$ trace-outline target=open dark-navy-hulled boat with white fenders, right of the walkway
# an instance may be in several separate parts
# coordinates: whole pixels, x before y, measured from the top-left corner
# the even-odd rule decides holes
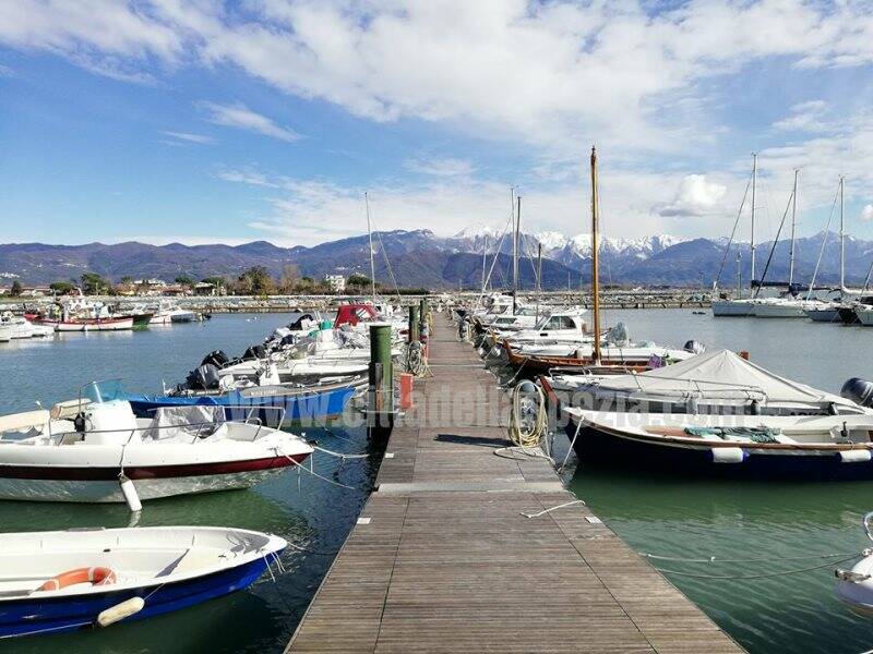
[[[671,474],[873,480],[873,414],[720,415],[565,408],[583,463]]]

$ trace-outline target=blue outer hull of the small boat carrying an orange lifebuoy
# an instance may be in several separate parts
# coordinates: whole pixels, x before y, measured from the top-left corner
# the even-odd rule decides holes
[[[125,618],[125,622],[194,606],[250,586],[266,570],[266,561],[265,556],[212,574],[174,583],[162,584],[157,580],[148,585],[116,592],[2,602],[0,638],[91,629],[96,626],[100,611],[132,597],[146,598],[145,606],[140,613]]]

